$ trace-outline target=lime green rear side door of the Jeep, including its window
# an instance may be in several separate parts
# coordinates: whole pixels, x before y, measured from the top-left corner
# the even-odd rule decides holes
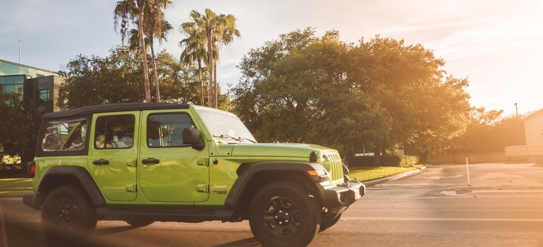
[[[136,158],[140,112],[94,114],[88,167],[106,200],[137,197]]]

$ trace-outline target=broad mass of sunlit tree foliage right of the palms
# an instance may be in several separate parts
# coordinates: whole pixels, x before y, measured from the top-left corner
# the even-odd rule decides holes
[[[233,111],[258,140],[343,154],[414,145],[425,154],[462,133],[468,82],[444,77],[444,61],[403,40],[376,36],[355,46],[338,37],[296,30],[243,57]]]

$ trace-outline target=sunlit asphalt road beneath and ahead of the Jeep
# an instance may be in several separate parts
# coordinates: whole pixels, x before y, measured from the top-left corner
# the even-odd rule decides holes
[[[368,187],[310,246],[543,246],[543,167],[431,165]],[[39,212],[0,199],[0,246],[47,246]],[[248,222],[155,222],[133,228],[99,222],[81,246],[260,246]],[[50,244],[54,246],[56,243]]]

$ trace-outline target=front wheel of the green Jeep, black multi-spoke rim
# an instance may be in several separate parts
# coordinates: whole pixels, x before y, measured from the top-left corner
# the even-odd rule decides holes
[[[307,246],[317,236],[321,218],[310,193],[291,181],[261,188],[248,217],[252,234],[263,246]]]

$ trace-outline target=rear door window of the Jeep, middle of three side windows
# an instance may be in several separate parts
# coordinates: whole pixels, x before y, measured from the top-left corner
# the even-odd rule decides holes
[[[100,116],[94,125],[94,147],[97,149],[132,147],[134,125],[134,115]]]

